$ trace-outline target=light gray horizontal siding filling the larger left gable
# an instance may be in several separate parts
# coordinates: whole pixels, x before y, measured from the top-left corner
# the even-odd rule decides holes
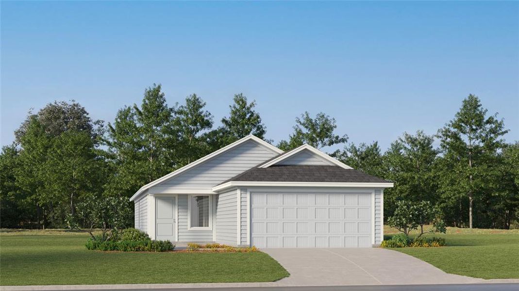
[[[265,146],[248,141],[155,188],[212,188],[276,155]]]

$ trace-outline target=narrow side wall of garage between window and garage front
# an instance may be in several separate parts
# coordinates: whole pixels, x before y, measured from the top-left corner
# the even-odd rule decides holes
[[[237,189],[223,192],[216,197],[216,241],[218,243],[237,244]]]

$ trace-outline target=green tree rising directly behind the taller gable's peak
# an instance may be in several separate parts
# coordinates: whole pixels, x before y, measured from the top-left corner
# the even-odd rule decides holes
[[[247,102],[247,97],[242,93],[234,95],[234,104],[229,105],[229,117],[222,118],[223,126],[216,129],[218,145],[221,148],[233,143],[242,137],[253,134],[262,140],[265,139],[266,127],[260,114],[254,110],[256,101]]]

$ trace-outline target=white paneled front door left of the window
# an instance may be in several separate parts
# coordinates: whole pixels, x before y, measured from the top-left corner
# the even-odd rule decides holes
[[[176,241],[176,197],[156,197],[155,199],[155,237],[162,241]]]

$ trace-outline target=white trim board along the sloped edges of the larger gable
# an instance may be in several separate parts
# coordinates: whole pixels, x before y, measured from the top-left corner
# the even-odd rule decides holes
[[[258,138],[258,137],[256,137],[256,136],[254,136],[254,135],[251,134],[251,135],[248,135],[248,136],[245,136],[245,137],[241,138],[240,140],[238,140],[238,141],[236,141],[236,142],[234,142],[234,143],[231,143],[231,144],[229,144],[229,145],[226,145],[226,146],[224,146],[224,147],[221,148],[221,149],[218,149],[218,150],[216,150],[216,151],[213,151],[213,153],[211,153],[211,154],[209,154],[209,155],[207,155],[207,156],[205,156],[205,157],[203,157],[203,158],[200,158],[200,159],[198,159],[198,160],[196,160],[196,161],[194,161],[194,162],[192,162],[192,163],[189,163],[189,164],[185,165],[184,167],[182,167],[182,168],[180,168],[180,169],[178,169],[178,170],[176,170],[176,171],[173,171],[173,172],[167,174],[166,176],[162,176],[162,177],[156,179],[155,181],[153,181],[153,182],[151,182],[151,183],[148,183],[148,184],[142,186],[142,187],[141,187],[137,192],[135,192],[135,194],[130,198],[130,201],[133,201],[135,198],[137,198],[139,195],[141,195],[141,193],[142,193],[144,190],[146,190],[146,189],[148,189],[148,188],[150,188],[150,187],[153,187],[153,186],[155,186],[155,185],[157,185],[157,184],[159,184],[159,183],[161,183],[161,182],[163,182],[163,181],[166,181],[166,180],[169,179],[169,178],[172,178],[172,177],[174,177],[174,176],[176,176],[176,175],[179,175],[179,174],[181,174],[182,172],[185,172],[185,171],[187,171],[187,170],[189,170],[189,169],[191,169],[191,168],[194,168],[194,167],[196,167],[197,165],[199,165],[199,164],[201,164],[201,163],[203,163],[203,162],[205,162],[205,161],[207,161],[207,160],[209,160],[209,159],[211,159],[211,158],[213,158],[213,157],[216,157],[216,156],[218,156],[218,155],[224,153],[225,151],[227,151],[227,150],[229,150],[229,149],[231,149],[231,148],[234,148],[234,147],[236,147],[236,146],[238,146],[238,145],[240,145],[240,144],[242,144],[242,143],[244,143],[244,142],[250,141],[250,140],[255,141],[255,142],[257,142],[257,143],[259,143],[259,144],[265,146],[266,148],[268,148],[269,150],[271,150],[271,151],[272,151],[273,153],[275,153],[275,154],[278,154],[278,155],[279,155],[279,154],[283,153],[283,151],[282,151],[281,149],[279,149],[279,148],[277,148],[277,147],[275,147],[275,146],[273,146],[273,145],[271,145],[271,144],[269,144],[269,143],[263,141],[261,138]]]

